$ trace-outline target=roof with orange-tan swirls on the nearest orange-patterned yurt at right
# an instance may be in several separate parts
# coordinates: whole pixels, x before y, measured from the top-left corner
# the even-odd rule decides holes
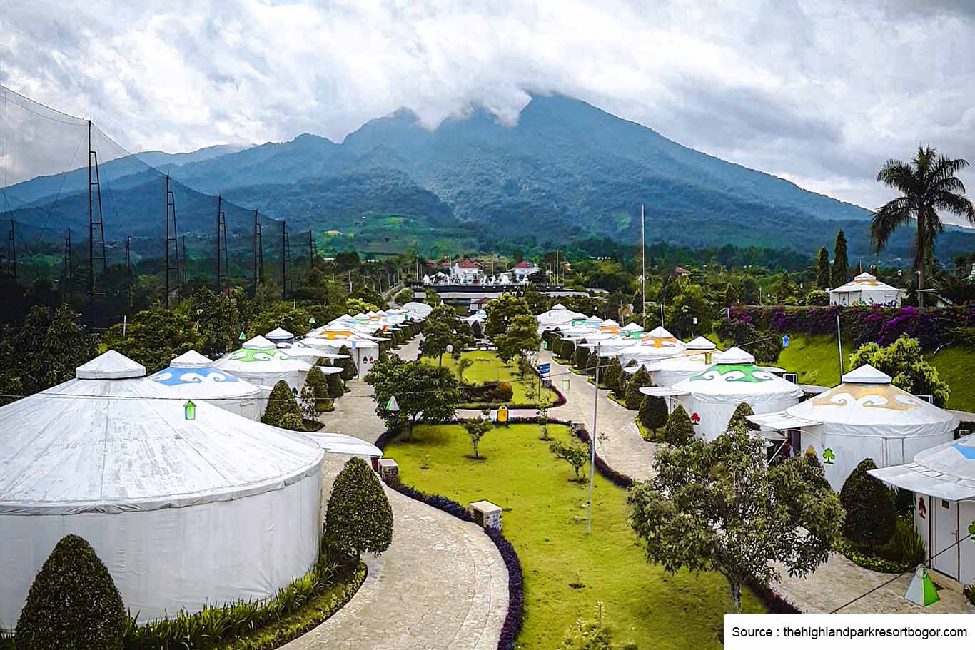
[[[889,375],[871,365],[847,372],[839,386],[786,412],[883,437],[935,436],[954,431],[958,424],[952,413],[897,388]]]

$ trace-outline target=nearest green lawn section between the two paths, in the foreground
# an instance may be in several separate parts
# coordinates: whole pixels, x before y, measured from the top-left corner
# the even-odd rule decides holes
[[[567,427],[551,426],[557,439]],[[537,425],[495,428],[473,460],[459,425],[418,425],[413,440],[395,440],[386,456],[404,482],[464,505],[487,499],[504,508],[504,534],[525,570],[523,648],[551,650],[577,617],[592,620],[597,600],[617,642],[649,648],[717,648],[731,599],[719,574],[668,575],[648,564],[627,522],[626,491],[596,476],[593,534],[586,535],[585,484],[539,440]],[[429,456],[429,469],[420,467]],[[581,583],[573,589],[570,584]],[[745,595],[746,611],[761,602]]]

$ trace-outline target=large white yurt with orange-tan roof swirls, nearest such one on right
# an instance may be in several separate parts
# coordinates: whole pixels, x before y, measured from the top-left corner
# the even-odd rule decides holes
[[[861,365],[842,383],[784,412],[754,416],[767,429],[795,430],[797,452],[812,448],[826,478],[839,491],[865,458],[879,468],[909,463],[917,452],[955,438],[950,412],[890,383],[890,376]]]

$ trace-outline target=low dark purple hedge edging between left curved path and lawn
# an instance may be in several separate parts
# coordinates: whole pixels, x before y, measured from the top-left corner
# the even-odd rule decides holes
[[[526,422],[531,423],[535,423],[536,421],[535,418],[514,419],[526,420]],[[453,420],[453,423],[456,422],[458,420]],[[552,421],[550,420],[550,422]],[[520,422],[515,422],[515,424],[520,424]],[[561,423],[555,422],[554,424]],[[386,444],[400,433],[399,430],[386,431],[375,440],[374,444],[380,449],[385,449]],[[395,484],[386,484],[400,494],[408,496],[410,499],[425,503],[431,508],[436,508],[448,515],[455,516],[461,521],[474,521],[474,517],[471,516],[470,511],[453,499],[439,494],[427,494],[402,481],[398,481]],[[525,575],[522,570],[522,561],[518,558],[515,547],[505,538],[504,534],[493,528],[484,528],[484,532],[488,539],[494,543],[494,546],[497,547],[498,553],[501,554],[501,558],[504,560],[505,568],[508,570],[508,613],[505,615],[504,624],[501,626],[501,636],[497,642],[497,650],[515,650],[515,641],[518,638],[519,632],[522,631],[522,624],[525,621]]]

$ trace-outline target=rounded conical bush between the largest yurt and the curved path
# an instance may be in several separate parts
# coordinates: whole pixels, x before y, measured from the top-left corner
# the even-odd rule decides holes
[[[393,510],[379,479],[362,458],[352,458],[331,484],[326,537],[347,554],[380,555],[393,541]]]

